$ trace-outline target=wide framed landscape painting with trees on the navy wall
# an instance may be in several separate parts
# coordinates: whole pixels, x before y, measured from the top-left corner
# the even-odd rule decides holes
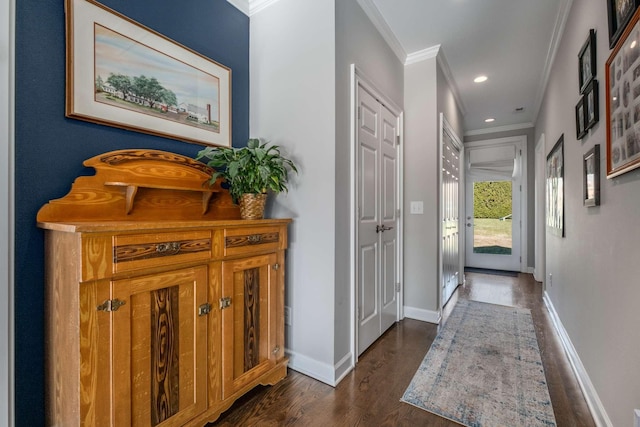
[[[66,116],[231,146],[231,69],[94,0],[66,0]]]

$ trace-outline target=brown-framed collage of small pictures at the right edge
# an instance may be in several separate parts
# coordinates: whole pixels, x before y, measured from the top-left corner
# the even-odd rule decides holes
[[[607,178],[640,167],[640,9],[605,66]]]

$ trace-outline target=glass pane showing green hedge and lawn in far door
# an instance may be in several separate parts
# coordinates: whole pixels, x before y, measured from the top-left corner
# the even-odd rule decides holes
[[[511,255],[511,181],[473,184],[473,252]]]

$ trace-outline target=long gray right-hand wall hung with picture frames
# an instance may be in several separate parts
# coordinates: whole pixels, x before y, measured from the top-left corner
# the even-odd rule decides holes
[[[600,122],[576,140],[577,54],[597,32]],[[615,426],[640,408],[640,170],[606,179],[605,63],[610,54],[606,2],[573,2],[536,123],[546,153],[564,134],[566,237],[546,235],[547,292]],[[635,66],[635,65],[634,65]],[[582,157],[601,148],[601,206],[582,205]],[[553,280],[549,281],[549,275]]]

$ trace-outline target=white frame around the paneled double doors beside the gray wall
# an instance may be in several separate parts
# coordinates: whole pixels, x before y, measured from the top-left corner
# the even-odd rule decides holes
[[[402,211],[400,207],[403,203],[403,191],[404,182],[403,169],[404,169],[404,113],[402,109],[398,107],[393,101],[387,98],[376,85],[360,70],[355,64],[351,64],[351,171],[350,171],[350,186],[351,186],[351,249],[350,249],[350,288],[351,288],[351,367],[355,367],[358,362],[358,292],[357,292],[357,265],[358,265],[358,150],[357,150],[357,132],[358,132],[358,86],[362,86],[368,92],[375,94],[378,98],[396,117],[398,117],[398,252],[396,254],[397,267],[398,267],[398,283],[400,284],[400,290],[397,296],[397,320],[404,318],[404,297],[403,297],[403,264],[402,264],[402,248],[403,248],[403,223],[402,223]]]

